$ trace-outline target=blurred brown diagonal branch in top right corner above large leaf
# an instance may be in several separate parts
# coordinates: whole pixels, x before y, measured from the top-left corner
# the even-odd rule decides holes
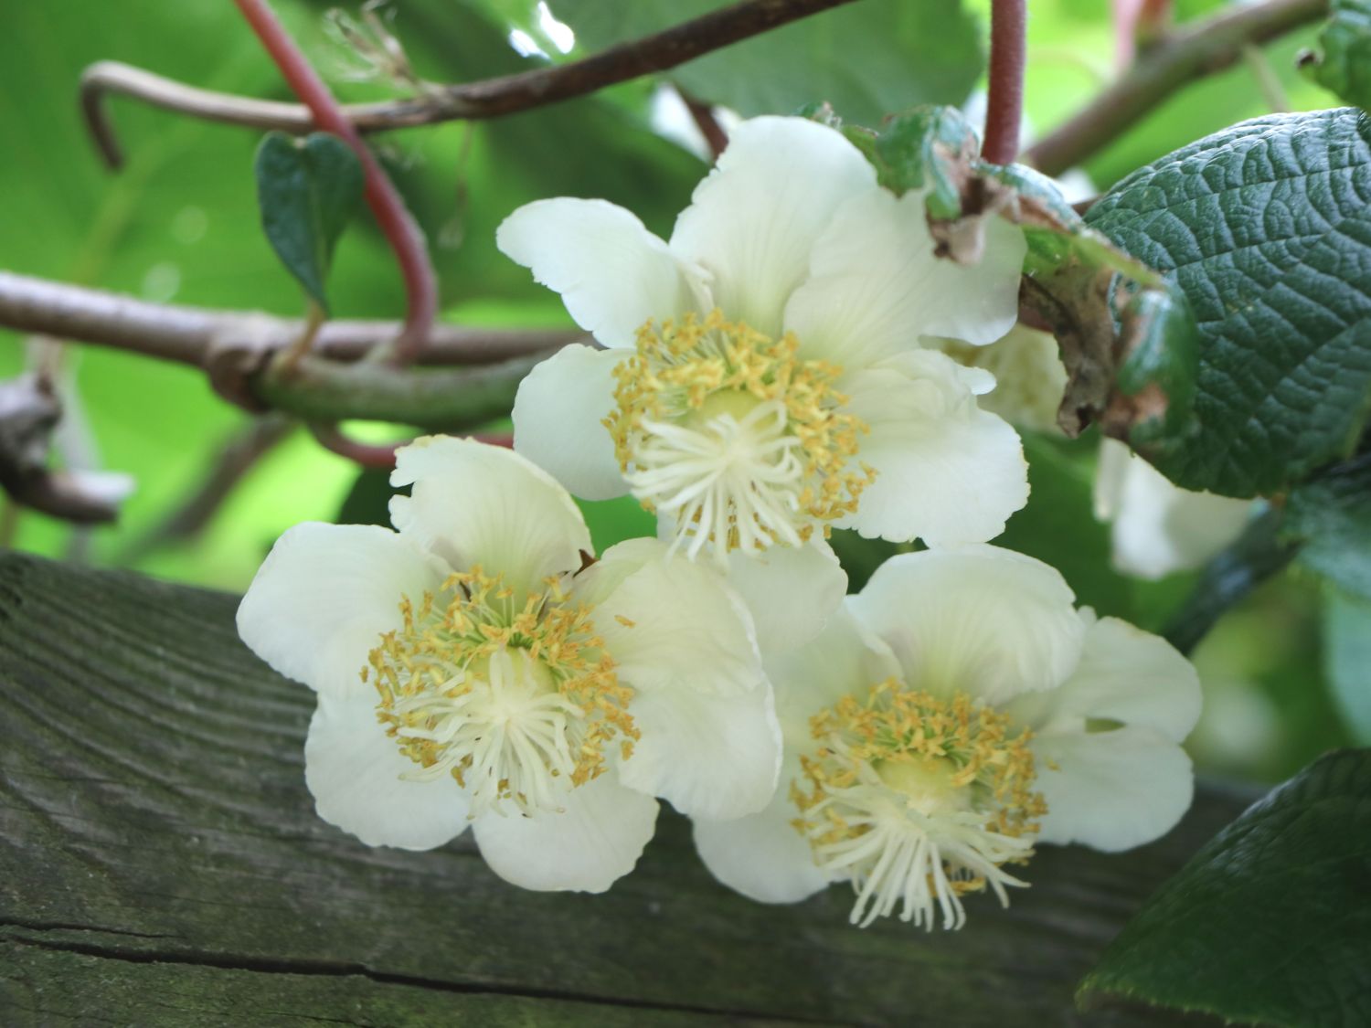
[[[1023,160],[1058,175],[1117,138],[1180,86],[1238,62],[1243,47],[1283,36],[1327,10],[1328,0],[1265,0],[1224,8],[1182,29],[1145,52],[1080,114],[1027,149]]]

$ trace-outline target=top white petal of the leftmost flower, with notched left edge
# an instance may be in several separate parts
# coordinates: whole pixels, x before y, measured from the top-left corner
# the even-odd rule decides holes
[[[511,450],[428,436],[395,452],[391,485],[411,482],[410,496],[391,500],[391,521],[459,570],[480,565],[514,589],[535,589],[591,551],[566,489]]]

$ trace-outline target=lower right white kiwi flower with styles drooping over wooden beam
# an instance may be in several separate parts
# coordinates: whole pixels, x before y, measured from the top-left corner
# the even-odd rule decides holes
[[[965,895],[1008,905],[1027,884],[1036,843],[1127,850],[1190,806],[1190,662],[1008,550],[891,558],[766,666],[780,788],[757,814],[695,820],[705,864],[754,899],[846,881],[854,924],[960,928]]]

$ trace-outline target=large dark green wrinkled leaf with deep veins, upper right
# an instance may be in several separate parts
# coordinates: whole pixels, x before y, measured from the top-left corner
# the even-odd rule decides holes
[[[1371,399],[1368,196],[1371,121],[1344,108],[1243,122],[1090,208],[1198,322],[1194,424],[1130,435],[1174,482],[1270,493],[1352,451]]]

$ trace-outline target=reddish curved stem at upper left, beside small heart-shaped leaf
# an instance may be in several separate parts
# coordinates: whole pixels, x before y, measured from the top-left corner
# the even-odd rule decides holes
[[[366,173],[366,203],[372,208],[381,232],[385,233],[395,259],[404,277],[407,311],[404,326],[395,340],[395,356],[400,363],[418,358],[428,341],[433,317],[437,314],[437,281],[429,262],[424,232],[404,207],[395,185],[387,177],[372,151],[362,143],[352,122],[343,114],[333,93],[315,74],[308,59],[295,45],[266,0],[233,0],[248,25],[256,33],[271,60],[281,70],[292,92],[300,99],[314,122],[343,138],[356,154]]]

